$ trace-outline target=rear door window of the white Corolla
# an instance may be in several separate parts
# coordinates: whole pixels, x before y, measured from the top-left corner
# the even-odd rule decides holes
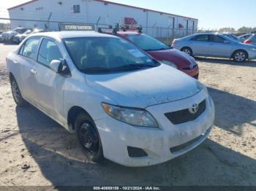
[[[33,38],[33,39],[27,40],[20,50],[20,55],[23,55],[27,58],[31,58],[36,61],[38,44],[39,44],[39,38]]]

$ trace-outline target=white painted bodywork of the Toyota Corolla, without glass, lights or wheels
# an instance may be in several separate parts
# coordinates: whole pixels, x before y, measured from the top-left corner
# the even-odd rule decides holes
[[[27,39],[53,39],[67,61],[71,77],[63,77],[45,66],[18,55]],[[118,74],[83,74],[76,69],[62,42],[64,38],[110,36],[94,32],[50,32],[33,34],[7,56],[7,70],[18,82],[23,98],[74,133],[67,122],[69,109],[80,106],[94,120],[102,141],[103,155],[127,166],[163,163],[183,155],[207,139],[214,123],[214,103],[206,87],[186,74],[162,64],[153,69],[126,71]],[[42,40],[42,39],[41,39]],[[38,48],[37,48],[38,51]],[[165,117],[167,112],[189,109],[206,100],[206,110],[196,120],[174,125]],[[158,128],[128,125],[105,113],[101,104],[146,109],[157,121]],[[196,139],[199,138],[199,139]],[[196,139],[177,152],[176,147]],[[127,147],[138,147],[147,157],[129,157]]]

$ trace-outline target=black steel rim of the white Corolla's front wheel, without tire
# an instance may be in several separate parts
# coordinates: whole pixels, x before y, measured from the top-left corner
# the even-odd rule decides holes
[[[84,122],[80,126],[79,135],[83,148],[91,155],[96,154],[99,150],[99,137],[95,128],[89,122]]]

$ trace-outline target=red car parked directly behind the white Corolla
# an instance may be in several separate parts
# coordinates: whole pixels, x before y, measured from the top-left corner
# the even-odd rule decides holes
[[[135,31],[118,31],[116,36],[120,36],[132,42],[157,61],[173,66],[183,71],[195,79],[199,77],[199,68],[195,62],[195,58],[168,46],[167,44],[154,39],[146,34]]]

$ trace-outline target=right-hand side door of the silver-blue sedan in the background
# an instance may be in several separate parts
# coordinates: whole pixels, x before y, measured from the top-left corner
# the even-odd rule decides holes
[[[232,44],[220,35],[209,35],[210,47],[209,54],[216,57],[230,58],[232,54]]]

